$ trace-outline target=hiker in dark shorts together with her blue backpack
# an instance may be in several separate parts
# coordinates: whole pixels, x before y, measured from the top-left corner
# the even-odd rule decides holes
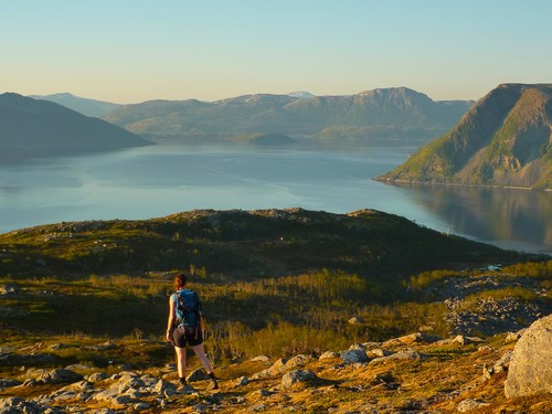
[[[193,390],[185,383],[185,347],[189,344],[198,355],[209,378],[211,390],[219,388],[214,376],[213,365],[203,350],[203,330],[201,326],[201,301],[198,295],[185,286],[185,275],[174,276],[174,290],[169,298],[169,321],[167,325],[167,340],[174,346],[177,352],[177,367],[179,376],[179,390]],[[185,306],[188,304],[188,306]],[[191,305],[190,305],[191,304]]]

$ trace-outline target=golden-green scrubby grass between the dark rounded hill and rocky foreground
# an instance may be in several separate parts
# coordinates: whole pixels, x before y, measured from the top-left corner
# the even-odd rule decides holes
[[[508,280],[528,275],[542,279],[541,286],[544,286],[550,283],[550,263],[518,264],[496,277]],[[459,280],[475,277],[474,273],[425,272],[410,278],[418,288],[410,293],[413,300],[379,302],[381,286],[344,272],[322,269],[252,280],[234,280],[205,269],[195,272],[192,288],[200,293],[205,304],[206,344],[212,357],[220,361],[258,354],[339,351],[350,343],[384,341],[421,327],[446,337],[449,329],[444,321],[447,308],[442,301],[433,301],[432,295],[424,299],[420,288],[438,286],[448,277]],[[21,289],[17,295],[0,298],[0,307],[9,309],[1,322],[2,329],[12,332],[7,337],[7,344],[13,343],[9,338],[19,338],[14,343],[21,344],[23,339],[18,332],[26,331],[43,338],[82,335],[158,343],[151,346],[151,351],[137,351],[139,361],[145,361],[150,353],[155,357],[163,352],[168,294],[171,291],[168,273],[0,278],[0,285],[7,284],[17,284]],[[476,310],[481,298],[499,301],[510,297],[526,302],[543,300],[529,288],[509,286],[469,295],[457,310]],[[352,317],[360,322],[349,323]],[[33,341],[25,343],[29,346]],[[68,354],[62,357],[70,358]],[[110,355],[124,359],[116,357]],[[74,359],[94,360],[91,353],[75,354]],[[97,363],[105,365],[105,360]]]

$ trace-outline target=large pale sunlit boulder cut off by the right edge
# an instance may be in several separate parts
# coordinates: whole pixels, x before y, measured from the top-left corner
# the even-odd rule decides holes
[[[552,315],[533,322],[516,343],[508,368],[508,399],[552,392]]]

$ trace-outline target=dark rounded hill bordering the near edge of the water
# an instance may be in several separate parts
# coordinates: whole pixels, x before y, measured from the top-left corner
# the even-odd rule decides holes
[[[416,270],[516,261],[373,210],[192,211],[147,221],[61,223],[0,234],[2,273],[148,272],[205,267],[255,277],[328,268],[394,284]]]

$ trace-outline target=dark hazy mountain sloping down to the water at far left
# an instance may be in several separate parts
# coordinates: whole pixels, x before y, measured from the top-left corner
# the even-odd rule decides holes
[[[149,145],[123,128],[47,100],[0,95],[2,160],[117,150]]]

